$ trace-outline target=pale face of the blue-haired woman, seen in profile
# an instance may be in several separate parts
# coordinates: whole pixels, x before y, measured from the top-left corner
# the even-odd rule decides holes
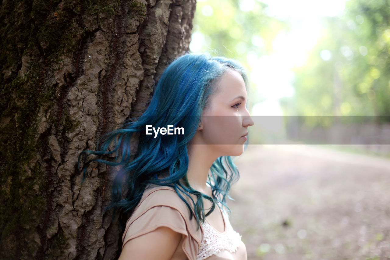
[[[218,157],[241,155],[247,128],[254,124],[245,107],[248,100],[245,82],[238,71],[229,69],[215,88],[216,93],[203,110],[199,142],[208,144]]]

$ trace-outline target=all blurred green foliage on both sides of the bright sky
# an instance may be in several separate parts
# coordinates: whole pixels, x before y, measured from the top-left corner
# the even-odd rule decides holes
[[[251,6],[243,6],[244,2],[248,1],[198,1],[195,51],[211,50],[238,59],[249,70],[249,55],[272,53],[273,40],[279,32],[289,30],[289,21],[269,17],[267,5],[260,1],[250,1]],[[293,68],[295,94],[280,99],[283,110],[302,116],[389,115],[389,14],[390,0],[349,0],[344,12],[324,17],[321,38],[308,50],[305,64]],[[252,87],[256,93],[257,86]],[[332,124],[317,121],[315,124]]]

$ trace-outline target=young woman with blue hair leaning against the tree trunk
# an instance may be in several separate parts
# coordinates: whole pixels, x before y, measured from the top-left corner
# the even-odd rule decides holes
[[[165,69],[140,118],[108,134],[98,151],[83,151],[116,154],[114,162],[87,161],[84,174],[92,161],[122,165],[111,204],[129,216],[120,260],[247,258],[226,213],[230,185],[239,178],[231,157],[243,153],[253,125],[247,82],[234,60],[185,54]]]

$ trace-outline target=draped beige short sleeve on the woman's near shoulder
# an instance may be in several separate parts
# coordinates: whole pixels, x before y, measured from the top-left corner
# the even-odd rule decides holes
[[[175,191],[156,189],[144,194],[144,199],[128,219],[123,246],[131,239],[167,227],[182,234],[181,249],[189,260],[196,260],[202,235],[196,229],[195,218],[189,219],[188,210]]]

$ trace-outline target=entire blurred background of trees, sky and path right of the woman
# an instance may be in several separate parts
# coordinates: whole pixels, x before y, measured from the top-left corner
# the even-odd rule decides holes
[[[249,259],[390,259],[390,1],[198,0],[193,24],[250,76]]]

